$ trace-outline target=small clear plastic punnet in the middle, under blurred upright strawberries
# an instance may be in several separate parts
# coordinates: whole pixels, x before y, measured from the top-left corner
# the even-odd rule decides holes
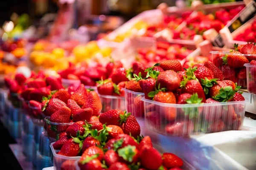
[[[99,98],[102,102],[102,113],[113,109],[125,110],[125,97],[123,96],[110,96],[110,95],[100,95]]]

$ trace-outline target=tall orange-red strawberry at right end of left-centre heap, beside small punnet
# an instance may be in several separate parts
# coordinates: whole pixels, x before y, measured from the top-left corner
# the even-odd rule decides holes
[[[102,110],[102,103],[96,91],[90,91],[88,93],[87,101],[82,108],[92,108],[93,116],[99,115],[99,112]]]

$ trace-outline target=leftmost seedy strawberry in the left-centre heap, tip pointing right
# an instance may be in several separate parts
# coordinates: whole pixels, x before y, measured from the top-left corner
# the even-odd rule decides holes
[[[66,103],[62,102],[60,99],[49,99],[42,108],[42,111],[46,116],[51,116],[64,106],[66,106]]]

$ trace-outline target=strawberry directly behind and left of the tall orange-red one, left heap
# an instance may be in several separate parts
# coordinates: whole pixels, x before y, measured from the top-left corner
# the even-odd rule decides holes
[[[70,99],[75,100],[79,106],[82,106],[87,102],[87,91],[83,84],[79,85],[76,91],[71,95]]]

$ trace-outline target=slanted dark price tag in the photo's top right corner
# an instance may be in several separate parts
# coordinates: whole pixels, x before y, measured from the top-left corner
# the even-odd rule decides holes
[[[249,21],[251,18],[253,18],[256,14],[256,3],[252,1],[247,6],[244,7],[244,9],[230,21],[230,26],[228,26],[228,29],[230,30],[230,33],[235,31],[237,28],[242,26],[244,23]]]

